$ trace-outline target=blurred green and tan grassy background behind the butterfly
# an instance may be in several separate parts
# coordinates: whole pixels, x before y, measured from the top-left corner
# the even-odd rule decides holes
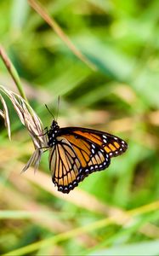
[[[1,0],[1,44],[32,108],[49,126],[44,104],[56,115],[60,96],[60,126],[111,132],[128,151],[62,195],[48,153],[35,175],[32,168],[20,175],[34,149],[7,100],[12,142],[1,119],[0,253],[159,255],[159,2],[41,3],[96,70],[26,0]],[[0,84],[17,91],[3,61]]]

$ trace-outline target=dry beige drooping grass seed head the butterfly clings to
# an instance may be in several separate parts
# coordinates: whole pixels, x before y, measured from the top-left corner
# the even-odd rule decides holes
[[[27,162],[26,166],[23,168],[22,172],[25,172],[30,166],[34,166],[37,170],[43,150],[48,148],[46,133],[43,129],[43,123],[41,119],[37,116],[37,113],[31,108],[31,106],[18,94],[13,91],[6,89],[3,85],[0,85],[0,91],[9,97],[12,102],[16,113],[18,114],[20,121],[26,126],[29,132],[32,142],[34,144],[35,151],[31,155],[30,160]],[[9,121],[9,110],[7,103],[5,102],[3,96],[0,94],[0,100],[3,104],[3,110],[0,110],[0,115],[3,117],[5,125],[8,129],[9,138],[10,133],[10,121]]]

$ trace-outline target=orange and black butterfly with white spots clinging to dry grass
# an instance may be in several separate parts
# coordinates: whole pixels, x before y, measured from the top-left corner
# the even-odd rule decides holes
[[[47,135],[53,183],[67,194],[90,173],[105,170],[111,164],[111,157],[128,148],[121,138],[104,131],[60,128],[55,119]]]

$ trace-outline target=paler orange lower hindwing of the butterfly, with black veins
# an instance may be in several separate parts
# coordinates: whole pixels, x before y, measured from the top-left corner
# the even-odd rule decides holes
[[[53,183],[58,186],[59,191],[69,193],[77,186],[81,179],[81,167],[71,143],[65,137],[57,137],[54,147],[49,150],[49,169],[52,172]]]

